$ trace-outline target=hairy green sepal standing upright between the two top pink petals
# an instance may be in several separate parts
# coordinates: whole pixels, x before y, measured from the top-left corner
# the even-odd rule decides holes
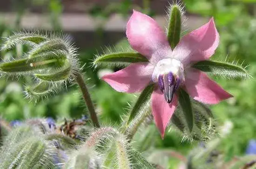
[[[182,29],[182,11],[181,7],[178,5],[173,5],[170,7],[170,21],[168,27],[168,42],[172,49],[180,41],[181,29]]]

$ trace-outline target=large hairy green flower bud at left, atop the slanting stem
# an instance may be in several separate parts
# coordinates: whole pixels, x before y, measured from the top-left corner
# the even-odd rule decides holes
[[[34,77],[36,85],[26,87],[25,93],[29,98],[37,100],[56,91],[60,84],[72,81],[79,70],[76,49],[68,38],[46,36],[39,32],[16,33],[5,39],[1,49],[10,49],[20,43],[30,44],[30,50],[20,58],[0,63],[0,73]]]

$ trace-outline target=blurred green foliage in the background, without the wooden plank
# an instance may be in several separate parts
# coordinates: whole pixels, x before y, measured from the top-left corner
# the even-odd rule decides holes
[[[13,0],[17,12],[16,27],[11,28],[8,25],[0,24],[1,37],[6,37],[11,30],[19,29],[20,18],[27,7],[25,1],[22,0],[22,5],[19,5],[21,0]],[[61,15],[63,7],[60,0],[33,0],[31,3],[35,5],[47,4],[47,12],[54,30],[61,30],[58,17]],[[248,69],[252,76],[255,76],[256,0],[184,0],[184,4],[186,4],[189,15],[214,17],[221,42],[213,58],[228,59],[230,62],[235,59],[239,60],[238,64],[249,65]],[[141,11],[154,15],[154,11],[149,6],[150,0],[143,0]],[[121,13],[123,17],[128,17],[128,13],[134,7],[138,8],[132,0],[122,0],[110,3],[105,7],[95,5],[91,8],[90,14],[94,17],[101,17],[106,22],[112,13]],[[101,31],[98,31],[99,36],[102,35]],[[122,43],[125,42],[122,41]],[[1,57],[6,59],[20,56],[24,50],[26,50],[26,46],[17,46],[14,50],[2,52]],[[101,120],[106,121],[106,124],[119,124],[121,123],[121,116],[127,112],[127,103],[135,100],[135,97],[133,94],[118,93],[99,80],[98,70],[94,71],[89,66],[96,50],[81,49],[79,57],[82,64],[86,63],[85,76],[90,78],[88,84],[91,85],[90,91],[94,102],[97,103],[97,111],[101,114]],[[27,79],[21,79],[20,83],[13,81],[11,78],[8,80],[0,78],[0,116],[8,121],[32,117],[77,118],[81,117],[81,114],[87,113],[86,107],[81,101],[79,90],[73,86],[68,87],[67,91],[63,91],[57,96],[50,97],[47,101],[40,101],[34,105],[34,102],[25,100],[22,94],[23,83]],[[231,159],[235,155],[243,154],[249,139],[256,138],[256,81],[255,79],[230,81],[217,78],[216,81],[234,95],[234,98],[230,100],[211,106],[219,125],[224,124],[227,120],[233,123],[232,132],[220,144],[220,150],[227,156],[227,159]],[[196,144],[181,143],[181,138],[172,130],[164,140],[161,140],[160,135],[158,135],[155,142],[157,148],[170,147],[184,154]],[[175,168],[175,163],[178,162],[174,159],[169,162],[172,164],[170,165],[172,168]]]

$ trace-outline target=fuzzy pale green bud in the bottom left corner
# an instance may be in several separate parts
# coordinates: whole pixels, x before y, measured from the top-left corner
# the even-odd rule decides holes
[[[31,126],[14,128],[6,137],[0,152],[1,169],[34,169],[53,167],[54,146]]]

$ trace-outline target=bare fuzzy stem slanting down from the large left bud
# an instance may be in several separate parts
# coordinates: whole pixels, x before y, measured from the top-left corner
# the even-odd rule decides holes
[[[85,84],[85,82],[82,78],[82,75],[79,72],[76,73],[76,79],[75,80],[76,80],[77,84],[79,85],[79,87],[81,88],[81,91],[82,91],[82,94],[83,94],[83,99],[84,99],[84,101],[85,101],[85,103],[88,107],[88,111],[90,113],[93,124],[94,124],[95,127],[99,128],[100,124],[99,124],[97,114],[96,114],[95,109],[94,109],[93,102],[91,100],[88,88],[86,87],[86,84]]]

